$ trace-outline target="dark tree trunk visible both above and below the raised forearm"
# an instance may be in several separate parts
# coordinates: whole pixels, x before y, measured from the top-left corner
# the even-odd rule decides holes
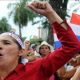
[[[68,0],[40,0],[40,1],[49,1],[51,6],[54,8],[54,10],[59,14],[59,16],[64,19],[65,16],[67,15],[67,3]],[[46,19],[43,19],[42,21],[43,28],[48,28],[48,38],[47,42],[53,45],[54,42],[54,37],[53,37],[53,31],[52,28],[50,27],[51,25]]]

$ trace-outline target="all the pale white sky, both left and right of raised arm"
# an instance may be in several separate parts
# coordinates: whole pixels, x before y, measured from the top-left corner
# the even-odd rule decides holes
[[[16,33],[19,34],[18,26],[14,24],[12,17],[9,18],[8,16],[11,9],[7,8],[9,3],[14,3],[15,1],[18,0],[0,0],[0,19],[5,16],[12,28],[16,29]],[[69,0],[68,14],[71,15],[76,8],[78,8],[76,13],[80,14],[80,0]],[[31,25],[31,22],[29,22],[28,25],[22,29],[22,36],[27,37],[28,39],[34,35],[38,36],[38,27],[40,27],[40,24],[33,26]]]

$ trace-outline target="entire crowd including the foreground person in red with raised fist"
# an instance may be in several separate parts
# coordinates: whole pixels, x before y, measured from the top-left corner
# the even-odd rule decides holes
[[[49,20],[62,46],[54,50],[46,41],[23,44],[15,33],[0,34],[0,80],[80,80],[80,42],[66,20],[45,1],[26,7]]]

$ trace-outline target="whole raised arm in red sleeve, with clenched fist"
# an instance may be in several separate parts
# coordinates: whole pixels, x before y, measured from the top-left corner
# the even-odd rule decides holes
[[[41,64],[45,73],[52,74],[79,51],[80,43],[70,26],[66,21],[63,22],[48,2],[33,2],[28,5],[28,7],[36,13],[48,18],[62,44],[61,48],[55,50],[42,60]],[[63,24],[61,24],[62,22]]]

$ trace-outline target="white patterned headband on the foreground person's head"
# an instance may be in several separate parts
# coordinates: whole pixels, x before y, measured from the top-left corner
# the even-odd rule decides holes
[[[24,48],[23,42],[19,38],[19,36],[17,34],[12,33],[12,32],[5,32],[5,33],[2,33],[2,35],[9,35],[9,36],[11,36],[12,38],[14,38],[20,44],[21,48]]]

